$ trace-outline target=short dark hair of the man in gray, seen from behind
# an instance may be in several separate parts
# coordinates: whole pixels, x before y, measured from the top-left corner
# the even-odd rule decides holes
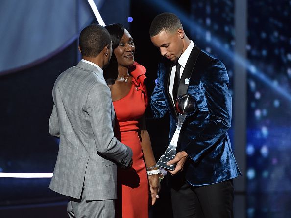
[[[85,27],[79,38],[82,56],[96,57],[106,45],[110,44],[110,41],[110,35],[103,26],[91,24]]]

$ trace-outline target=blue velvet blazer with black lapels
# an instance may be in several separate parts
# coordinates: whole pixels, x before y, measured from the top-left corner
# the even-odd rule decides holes
[[[154,118],[161,118],[168,111],[170,113],[169,142],[177,125],[177,112],[169,94],[171,68],[172,62],[167,59],[159,63],[150,101]],[[189,79],[189,85],[185,79]],[[192,159],[188,158],[184,173],[193,186],[213,184],[241,175],[227,134],[231,125],[232,101],[228,84],[223,63],[194,46],[177,95],[191,94],[198,104],[196,113],[186,117],[177,145],[177,152],[185,151]]]

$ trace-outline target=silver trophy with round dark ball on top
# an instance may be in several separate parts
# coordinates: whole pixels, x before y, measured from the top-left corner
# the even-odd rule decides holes
[[[167,162],[174,159],[176,156],[177,142],[180,135],[180,130],[187,115],[193,114],[197,109],[196,100],[189,94],[180,95],[175,104],[176,110],[179,113],[178,124],[170,145],[165,153],[160,157],[157,166],[163,167],[168,170],[174,170],[175,165],[167,165]]]

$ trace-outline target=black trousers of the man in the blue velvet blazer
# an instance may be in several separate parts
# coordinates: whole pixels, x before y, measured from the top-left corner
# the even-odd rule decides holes
[[[196,187],[179,183],[171,188],[174,218],[233,218],[233,179]]]

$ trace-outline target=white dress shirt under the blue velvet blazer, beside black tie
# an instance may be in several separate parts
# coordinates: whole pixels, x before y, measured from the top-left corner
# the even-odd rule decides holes
[[[191,53],[193,48],[194,48],[194,42],[192,40],[190,40],[190,44],[188,45],[186,50],[182,53],[182,55],[180,56],[180,58],[177,61],[181,65],[180,78],[182,77],[184,68],[186,66],[186,63],[188,61],[188,58],[189,58],[190,53]],[[172,97],[172,101],[174,104],[175,104],[175,102],[173,99],[173,86],[174,86],[174,80],[175,80],[175,73],[176,73],[176,66],[173,66],[172,71],[171,71],[171,75],[170,75],[169,93],[170,93],[170,96]]]

